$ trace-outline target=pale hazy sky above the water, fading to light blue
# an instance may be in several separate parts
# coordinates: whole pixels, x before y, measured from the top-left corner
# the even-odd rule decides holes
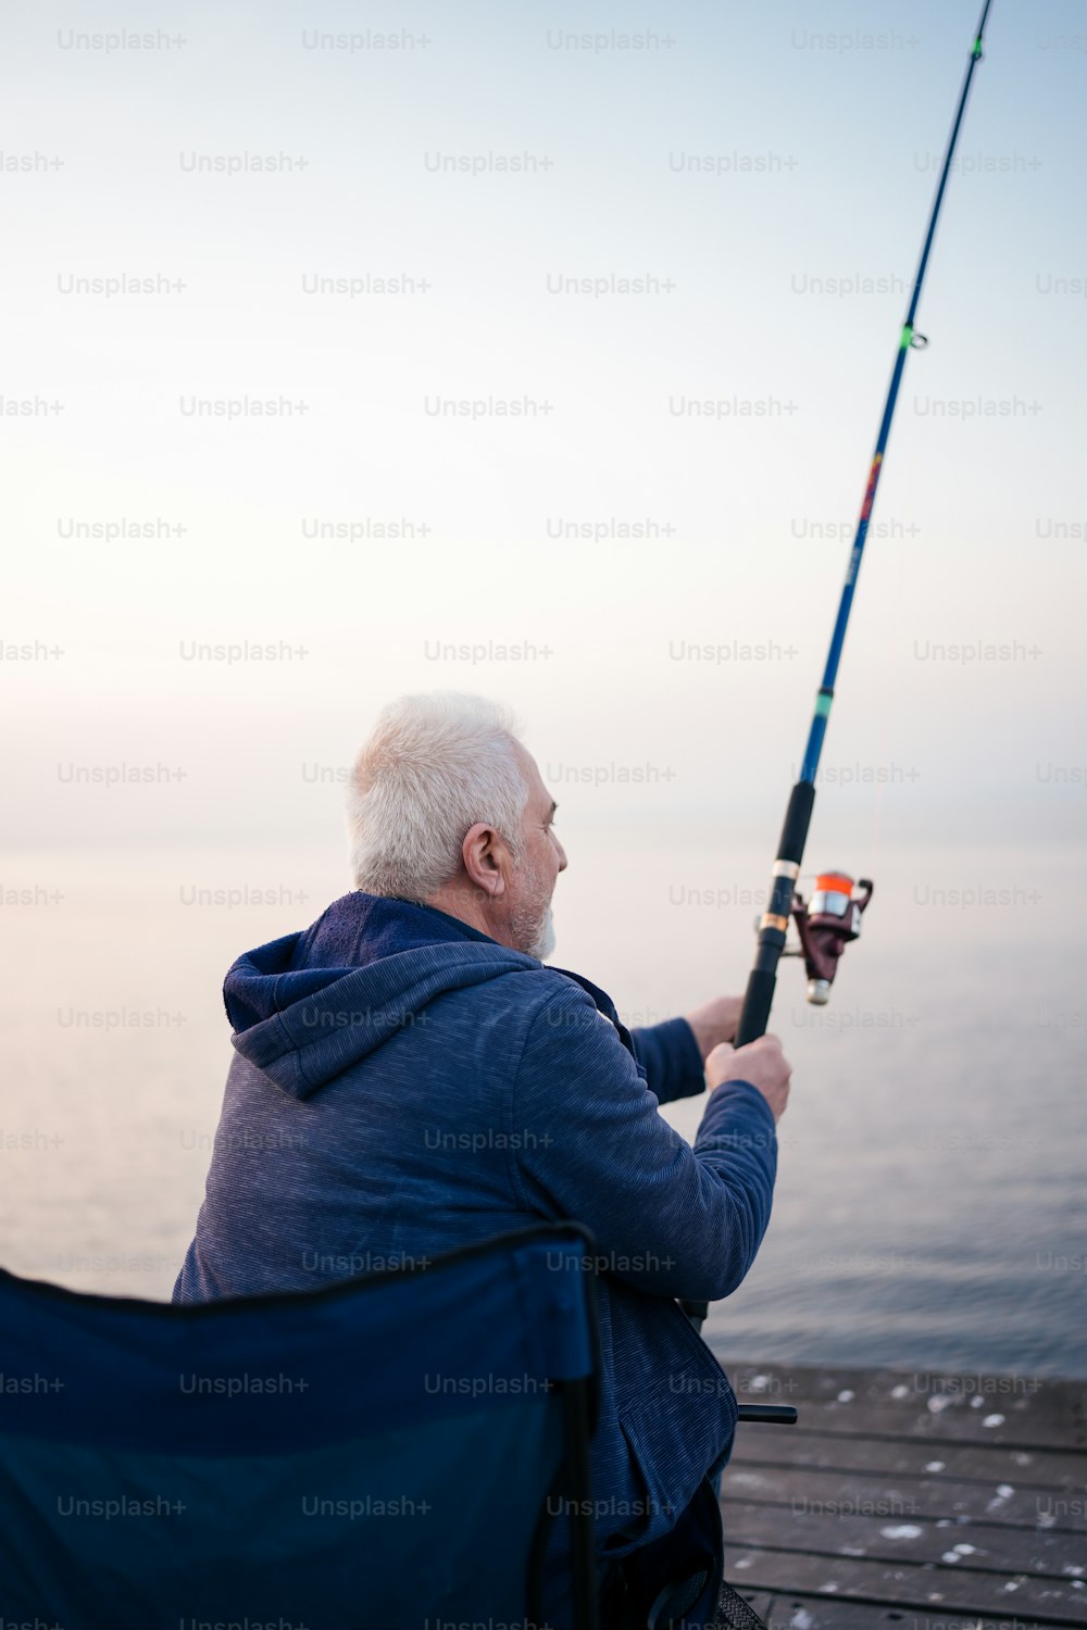
[[[8,16],[8,849],[339,841],[455,688],[564,822],[769,859],[976,13]],[[1085,78],[1082,5],[994,0],[828,831],[1082,831]]]

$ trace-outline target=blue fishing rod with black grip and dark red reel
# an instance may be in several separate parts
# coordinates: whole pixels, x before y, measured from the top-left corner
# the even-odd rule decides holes
[[[857,530],[849,553],[849,566],[846,567],[846,582],[838,605],[838,618],[834,621],[834,632],[831,634],[826,668],[823,670],[823,683],[820,685],[815,698],[815,714],[812,717],[808,740],[803,748],[800,776],[789,794],[786,820],[777,843],[777,857],[771,872],[769,903],[758,924],[755,965],[748,975],[743,1011],[740,1012],[740,1024],[733,1040],[735,1046],[746,1046],[748,1042],[756,1042],[761,1035],[766,1035],[766,1025],[774,1002],[774,988],[777,985],[777,963],[782,955],[803,957],[808,973],[810,1002],[821,1006],[830,999],[831,985],[838,970],[838,960],[846,945],[860,932],[860,914],[872,898],[872,883],[867,879],[860,879],[859,883],[854,885],[852,879],[844,872],[825,872],[816,879],[816,892],[812,895],[812,900],[805,901],[797,892],[797,879],[800,877],[800,862],[803,861],[808,826],[812,825],[812,810],[815,807],[815,776],[820,768],[820,755],[823,751],[823,738],[826,735],[826,720],[830,719],[831,704],[834,701],[838,663],[841,662],[846,626],[849,623],[852,597],[857,587],[857,574],[860,570],[860,557],[864,554],[864,543],[872,522],[875,492],[883,471],[883,455],[887,453],[887,442],[891,434],[898,390],[906,368],[906,355],[909,350],[924,350],[929,344],[927,336],[919,334],[914,328],[914,319],[918,316],[924,274],[929,269],[929,256],[932,254],[932,241],[940,218],[947,181],[952,173],[952,160],[955,158],[958,132],[962,129],[966,103],[970,99],[970,86],[973,83],[975,68],[981,62],[983,55],[981,47],[991,5],[992,0],[984,0],[981,21],[978,23],[978,29],[975,33],[970,59],[966,62],[966,73],[963,77],[963,88],[955,111],[955,122],[947,143],[947,153],[944,155],[944,170],[940,173],[940,183],[935,189],[932,214],[929,215],[929,230],[926,233],[921,261],[918,264],[918,275],[913,285],[909,310],[906,311],[906,321],[903,323],[898,337],[898,352],[895,355],[891,383],[887,391],[887,406],[883,408],[880,432],[875,438],[875,453],[869,469],[869,481],[860,502],[860,517],[857,520]],[[797,926],[800,941],[799,952],[786,949],[790,921]],[[706,1302],[684,1302],[683,1307],[693,1322],[701,1325],[706,1317]]]

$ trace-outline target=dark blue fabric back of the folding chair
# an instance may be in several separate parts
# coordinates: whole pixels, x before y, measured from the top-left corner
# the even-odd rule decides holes
[[[593,1255],[541,1224],[199,1307],[0,1271],[3,1620],[543,1623],[552,1508],[596,1630]]]

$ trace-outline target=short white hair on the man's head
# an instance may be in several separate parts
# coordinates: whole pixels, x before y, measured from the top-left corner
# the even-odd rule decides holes
[[[513,716],[460,691],[401,696],[363,745],[347,792],[355,888],[427,900],[456,874],[464,833],[486,822],[523,854],[528,784]]]

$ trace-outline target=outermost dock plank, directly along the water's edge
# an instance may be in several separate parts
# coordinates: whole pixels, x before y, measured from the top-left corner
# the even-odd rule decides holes
[[[742,1403],[794,1403],[802,1423],[823,1433],[1087,1447],[1082,1382],[758,1364],[725,1371]]]

